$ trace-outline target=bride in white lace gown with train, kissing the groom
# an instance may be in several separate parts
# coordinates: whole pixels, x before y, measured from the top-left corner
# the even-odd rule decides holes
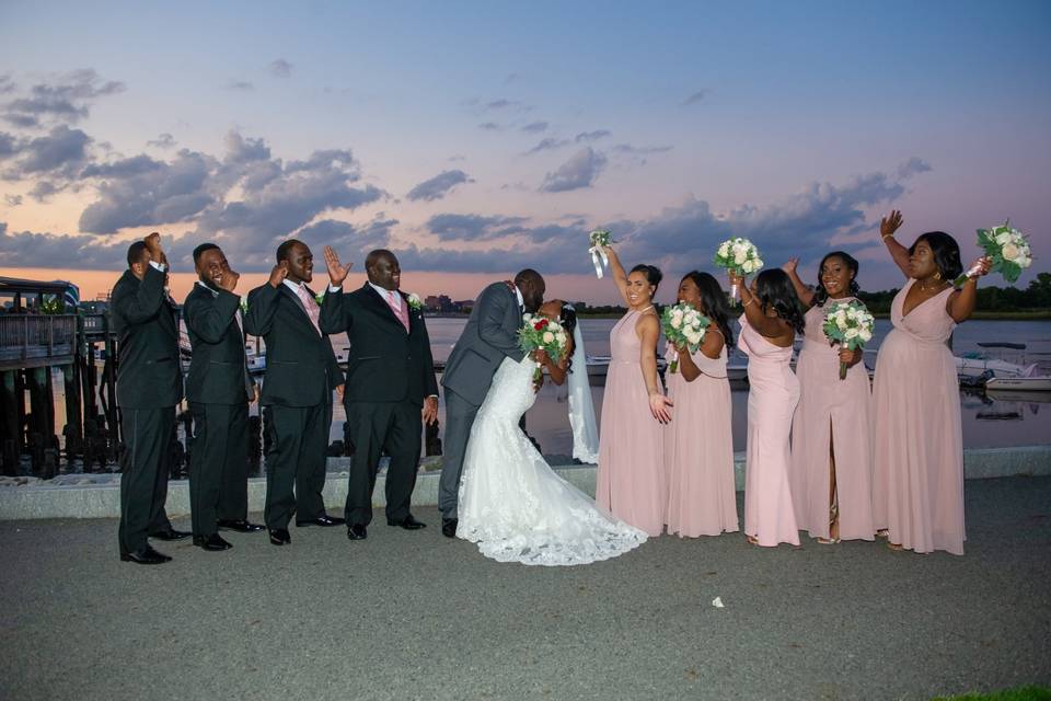
[[[540,311],[556,319],[561,307],[552,300]],[[559,384],[565,365],[548,366]],[[505,358],[493,377],[471,427],[457,536],[477,543],[486,558],[527,565],[587,564],[637,548],[646,533],[555,474],[519,428],[536,399],[535,367],[529,356],[521,363]]]

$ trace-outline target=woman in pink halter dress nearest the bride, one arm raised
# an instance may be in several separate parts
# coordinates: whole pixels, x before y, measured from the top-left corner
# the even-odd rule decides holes
[[[625,274],[613,249],[605,252],[628,311],[610,332],[594,501],[621,520],[660,536],[668,502],[661,424],[671,421],[671,401],[657,375],[660,322],[652,299],[661,274],[651,265]]]

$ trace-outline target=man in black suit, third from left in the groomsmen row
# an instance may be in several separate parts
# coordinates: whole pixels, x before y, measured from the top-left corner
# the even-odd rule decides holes
[[[266,343],[266,375],[259,403],[265,407],[266,528],[270,542],[291,542],[288,524],[338,526],[325,514],[325,448],[332,388],[343,384],[328,336],[321,332],[320,306],[307,287],[314,256],[291,239],[277,249],[270,279],[249,292],[244,329]]]

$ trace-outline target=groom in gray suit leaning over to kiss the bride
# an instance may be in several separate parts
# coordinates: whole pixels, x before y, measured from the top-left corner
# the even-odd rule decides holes
[[[521,361],[526,356],[518,345],[522,314],[540,309],[544,291],[544,278],[530,268],[515,276],[513,287],[507,283],[486,287],[446,361],[441,378],[446,388],[446,439],[438,508],[441,532],[448,538],[457,535],[460,473],[471,425],[504,358]]]

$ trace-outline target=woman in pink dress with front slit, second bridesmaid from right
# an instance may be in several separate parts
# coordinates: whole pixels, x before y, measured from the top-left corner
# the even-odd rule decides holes
[[[818,286],[796,274],[798,260],[784,271],[809,307],[802,349],[796,361],[799,406],[792,422],[792,497],[796,522],[819,543],[873,540],[871,388],[861,350],[829,343],[824,315],[834,302],[856,301],[857,261],[836,251],[821,260]],[[840,379],[840,363],[850,368]]]

